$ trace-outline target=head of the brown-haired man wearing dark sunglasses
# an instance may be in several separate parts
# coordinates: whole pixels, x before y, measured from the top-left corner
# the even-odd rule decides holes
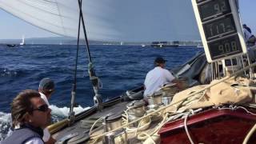
[[[30,124],[46,127],[50,123],[50,109],[36,90],[23,90],[11,103],[12,125]]]

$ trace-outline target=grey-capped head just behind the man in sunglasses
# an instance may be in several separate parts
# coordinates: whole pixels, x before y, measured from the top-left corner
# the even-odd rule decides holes
[[[39,82],[38,91],[50,97],[50,94],[52,94],[55,90],[54,88],[54,81],[52,81],[50,78],[42,78],[42,80]]]

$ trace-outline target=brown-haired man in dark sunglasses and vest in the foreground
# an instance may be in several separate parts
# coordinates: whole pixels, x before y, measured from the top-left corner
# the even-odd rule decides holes
[[[2,144],[43,144],[43,129],[50,124],[50,109],[36,90],[24,90],[11,103],[13,133]]]

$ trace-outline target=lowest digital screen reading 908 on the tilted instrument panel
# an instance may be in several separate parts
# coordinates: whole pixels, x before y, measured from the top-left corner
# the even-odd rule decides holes
[[[238,34],[233,34],[227,38],[221,38],[214,42],[209,42],[208,47],[213,60],[242,53],[242,46],[239,41]]]

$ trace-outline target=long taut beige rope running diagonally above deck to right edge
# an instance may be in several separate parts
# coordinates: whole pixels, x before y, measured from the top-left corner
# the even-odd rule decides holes
[[[240,74],[241,72],[243,72],[244,70],[248,70],[248,69],[250,69],[250,67],[253,67],[253,66],[256,66],[256,62],[254,62],[254,63],[251,64],[250,66],[244,67],[242,70],[236,71],[234,74],[230,74],[230,76],[228,76],[228,77],[226,77],[226,78],[222,78],[222,80],[220,80],[220,81],[218,81],[218,82],[216,82],[216,83],[213,83],[213,84],[210,84],[209,86],[206,86],[206,87],[203,88],[202,90],[198,90],[197,92],[194,92],[194,93],[192,93],[192,94],[189,94],[187,98],[190,98],[191,96],[194,96],[195,94],[199,94],[199,93],[201,93],[202,91],[207,90],[207,89],[209,89],[210,87],[217,85],[218,83],[224,82],[224,81],[226,81],[227,79],[232,78],[232,77],[234,77],[235,75],[238,75],[238,74]],[[143,116],[142,118],[138,118],[138,119],[134,120],[133,122],[126,123],[124,126],[119,126],[118,128],[115,128],[114,130],[110,130],[110,131],[108,131],[108,132],[106,132],[106,133],[104,133],[104,134],[99,134],[99,135],[94,136],[94,137],[91,137],[91,138],[93,138],[93,139],[94,139],[94,138],[101,138],[102,136],[104,136],[104,135],[106,135],[106,134],[110,134],[110,133],[114,132],[115,130],[122,129],[122,128],[126,127],[126,126],[129,126],[130,124],[133,124],[134,122],[138,122],[138,121],[142,120],[143,118],[149,117],[150,115],[152,115],[152,114],[154,114],[154,113],[157,113],[157,112],[159,112],[159,111],[161,111],[161,110],[165,110],[166,108],[168,108],[168,107],[170,107],[170,106],[174,106],[175,104],[178,104],[179,102],[183,102],[183,101],[186,100],[187,98],[182,98],[182,99],[179,100],[178,102],[174,102],[174,103],[172,103],[172,104],[170,104],[170,105],[160,107],[158,110],[155,110],[154,112],[152,112],[152,113],[150,113],[150,114],[146,114],[146,115]]]

